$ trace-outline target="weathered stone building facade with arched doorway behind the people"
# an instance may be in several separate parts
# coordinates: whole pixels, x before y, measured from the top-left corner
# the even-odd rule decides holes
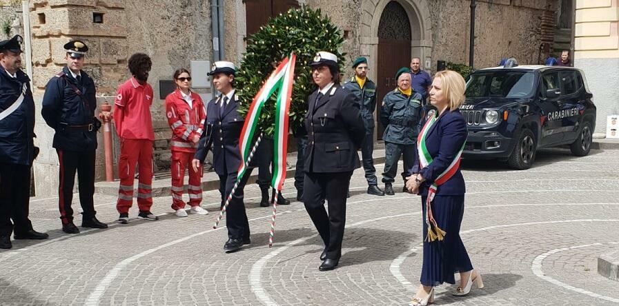
[[[557,0],[478,0],[475,18],[475,68],[497,65],[504,57],[539,63],[551,54]],[[616,1],[615,1],[616,2]],[[90,46],[85,70],[95,79],[100,103],[113,103],[117,85],[130,75],[127,59],[144,52],[153,59],[149,82],[155,90],[156,168],[169,163],[170,130],[164,117],[164,84],[192,61],[227,59],[239,63],[250,34],[268,17],[288,8],[320,8],[345,38],[344,61],[369,59],[379,100],[395,88],[397,68],[420,57],[425,70],[439,60],[468,63],[470,1],[462,0],[31,0],[32,63],[35,101],[64,63],[62,45],[84,39]],[[353,70],[346,71],[351,76]],[[202,74],[193,72],[193,78]],[[208,99],[210,88],[197,92]],[[164,94],[165,92],[161,92]],[[380,103],[379,103],[380,104]],[[40,109],[40,108],[39,108]],[[36,194],[57,194],[58,161],[53,131],[39,116],[35,163]],[[101,137],[100,137],[101,138]],[[102,147],[102,140],[99,141]],[[104,150],[98,150],[97,180],[104,179]]]

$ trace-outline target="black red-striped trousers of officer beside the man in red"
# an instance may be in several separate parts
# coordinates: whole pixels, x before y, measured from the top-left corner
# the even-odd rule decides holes
[[[60,219],[62,224],[73,222],[73,184],[77,171],[77,189],[79,203],[83,210],[83,218],[92,218],[95,212],[95,203],[92,195],[95,194],[95,150],[67,151],[57,149],[60,162],[60,186],[58,188]]]

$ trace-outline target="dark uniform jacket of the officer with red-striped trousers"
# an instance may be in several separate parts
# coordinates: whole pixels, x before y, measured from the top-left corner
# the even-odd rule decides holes
[[[52,77],[43,95],[41,114],[45,122],[56,131],[52,146],[69,151],[90,151],[97,149],[97,126],[94,125],[95,82],[81,71],[81,83],[71,75],[68,68]],[[79,92],[76,91],[79,90]],[[76,125],[90,125],[90,128],[70,128]],[[90,131],[89,131],[90,130]]]

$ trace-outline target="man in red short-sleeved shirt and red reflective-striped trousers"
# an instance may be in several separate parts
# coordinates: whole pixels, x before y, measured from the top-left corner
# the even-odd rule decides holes
[[[129,222],[129,208],[133,202],[133,179],[135,164],[139,165],[137,185],[138,218],[155,221],[159,218],[150,212],[153,195],[150,184],[153,181],[153,119],[150,105],[153,103],[153,88],[146,83],[153,63],[144,53],[129,58],[132,78],[118,88],[114,105],[114,123],[120,139],[118,174],[120,186],[116,209],[120,216],[118,223]]]

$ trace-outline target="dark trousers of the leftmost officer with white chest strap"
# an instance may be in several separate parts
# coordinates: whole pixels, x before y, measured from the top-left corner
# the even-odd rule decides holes
[[[32,230],[29,202],[30,166],[0,163],[0,236],[10,236],[13,230],[17,234]]]

